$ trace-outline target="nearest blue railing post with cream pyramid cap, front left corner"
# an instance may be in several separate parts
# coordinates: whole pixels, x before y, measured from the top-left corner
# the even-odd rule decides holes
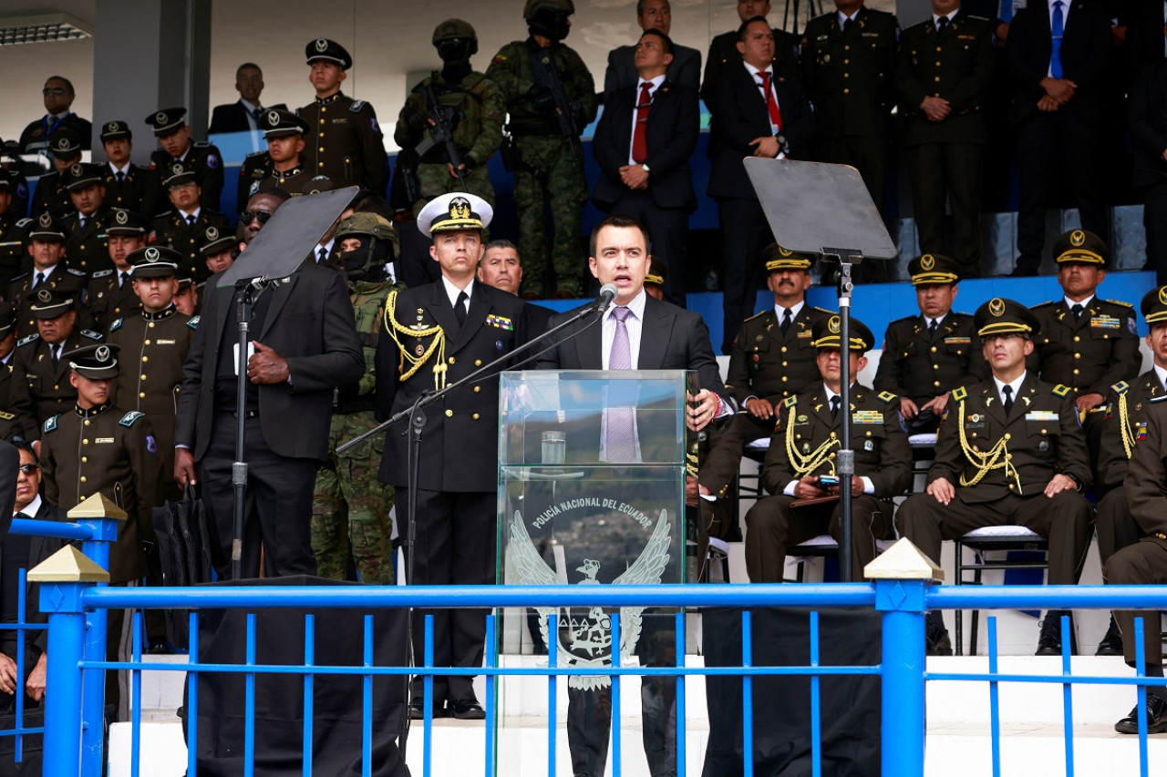
[[[41,586],[41,611],[49,616],[49,650],[44,694],[44,774],[78,775],[92,771],[96,758],[100,772],[102,754],[88,754],[82,761],[82,660],[85,652],[85,609],[83,592],[109,582],[105,569],[81,551],[65,546],[28,573],[28,581]],[[98,724],[100,733],[100,724]]]

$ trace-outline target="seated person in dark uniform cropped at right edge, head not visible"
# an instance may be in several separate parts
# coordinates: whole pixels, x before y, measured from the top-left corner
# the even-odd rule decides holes
[[[1131,513],[1145,534],[1110,556],[1103,580],[1116,586],[1162,586],[1167,583],[1167,394],[1149,400],[1146,433],[1131,454],[1131,467],[1123,482]],[[1163,676],[1163,643],[1160,615],[1151,611],[1117,611],[1114,620],[1123,632],[1123,657],[1135,666],[1134,620],[1142,620],[1142,667],[1147,677]],[[1135,667],[1138,668],[1138,667]],[[1147,733],[1167,732],[1167,688],[1148,686]],[[1119,734],[1138,734],[1139,708],[1114,723]]]

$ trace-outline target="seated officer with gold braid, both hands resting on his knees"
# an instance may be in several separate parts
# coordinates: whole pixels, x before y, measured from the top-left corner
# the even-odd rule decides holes
[[[942,540],[983,526],[1026,526],[1049,540],[1049,583],[1072,584],[1090,519],[1081,494],[1090,487],[1090,463],[1074,392],[1026,370],[1040,331],[1023,304],[992,299],[977,308],[974,326],[993,377],[952,390],[928,492],[900,505],[900,536],[939,562]],[[1039,656],[1062,651],[1060,615],[1047,614]],[[928,648],[952,649],[939,611],[928,614]]]

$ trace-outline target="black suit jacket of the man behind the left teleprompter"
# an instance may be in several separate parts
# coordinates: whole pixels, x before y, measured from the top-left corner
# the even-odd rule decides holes
[[[242,259],[246,261],[246,259]],[[186,378],[175,419],[175,444],[193,449],[195,461],[207,453],[215,412],[215,374],[223,329],[236,315],[233,289],[207,282],[202,320],[183,368]],[[287,359],[289,379],[259,386],[259,420],[264,441],[286,457],[324,459],[333,415],[333,388],[361,379],[364,356],[354,326],[344,278],[334,270],[303,265],[272,294],[263,327],[252,332]]]

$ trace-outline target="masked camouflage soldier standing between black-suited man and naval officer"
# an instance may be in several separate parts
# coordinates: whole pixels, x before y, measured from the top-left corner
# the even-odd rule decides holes
[[[392,584],[393,487],[377,480],[385,438],[375,434],[344,454],[337,454],[336,446],[377,426],[377,331],[385,296],[393,288],[385,264],[397,253],[397,232],[376,214],[354,214],[341,222],[336,243],[364,346],[365,373],[358,384],[335,393],[329,455],[316,474],[313,495],[312,550],[321,578],[345,580],[351,553],[362,582]]]

